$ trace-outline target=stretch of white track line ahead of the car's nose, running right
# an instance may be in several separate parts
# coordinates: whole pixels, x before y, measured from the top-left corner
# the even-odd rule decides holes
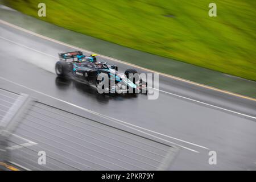
[[[152,88],[152,87],[148,87],[148,88],[155,89],[155,88]],[[207,103],[205,103],[205,102],[201,102],[201,101],[194,100],[194,99],[192,99],[192,98],[180,96],[180,95],[177,95],[177,94],[175,94],[175,93],[166,92],[166,91],[160,90],[160,89],[155,89],[155,90],[158,90],[158,91],[163,92],[163,93],[171,94],[171,95],[176,96],[176,97],[184,98],[184,99],[189,100],[189,101],[193,101],[193,102],[197,102],[197,103],[200,103],[200,104],[204,104],[204,105],[207,105],[207,106],[210,106],[210,107],[214,107],[214,108],[217,108],[217,109],[225,110],[225,111],[228,111],[228,112],[230,112],[230,113],[239,114],[239,115],[242,115],[242,116],[244,116],[244,117],[256,119],[256,117],[253,117],[253,116],[251,116],[251,115],[247,115],[247,114],[243,114],[243,113],[238,113],[237,111],[225,109],[225,108],[223,108],[223,107],[215,106],[215,105],[212,105],[212,104],[207,104]]]

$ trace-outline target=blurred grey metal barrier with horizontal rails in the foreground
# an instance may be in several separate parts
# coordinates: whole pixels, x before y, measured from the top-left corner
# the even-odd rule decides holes
[[[179,148],[0,89],[5,161],[31,170],[165,170]],[[13,96],[14,97],[14,96]],[[3,102],[1,102],[1,99]],[[12,105],[11,105],[12,104]],[[0,106],[1,106],[0,105]],[[1,109],[1,107],[0,107]],[[46,165],[38,152],[46,152]]]

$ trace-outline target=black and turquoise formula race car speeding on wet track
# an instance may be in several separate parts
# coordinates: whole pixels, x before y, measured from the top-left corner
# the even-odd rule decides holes
[[[96,56],[86,56],[81,51],[59,53],[60,60],[55,65],[56,74],[95,85],[104,90],[104,93],[147,94],[147,82],[139,77],[135,69],[120,73],[116,65],[98,62]]]

